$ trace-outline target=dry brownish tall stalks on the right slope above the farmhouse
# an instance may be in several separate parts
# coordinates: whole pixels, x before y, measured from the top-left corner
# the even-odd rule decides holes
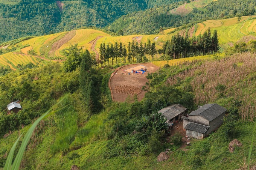
[[[168,84],[185,81],[193,77],[190,84],[195,94],[195,104],[214,102],[219,98],[215,89],[217,84],[227,86],[226,97],[242,101],[240,116],[242,119],[256,117],[256,53],[235,54],[221,60],[206,61],[187,71],[170,77]],[[191,78],[190,78],[191,80]]]

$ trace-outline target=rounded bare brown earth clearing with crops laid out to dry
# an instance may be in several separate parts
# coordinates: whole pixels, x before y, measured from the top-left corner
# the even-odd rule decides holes
[[[125,71],[126,69],[140,65],[146,66],[147,72],[144,74],[136,74]],[[142,100],[145,96],[145,91],[141,90],[141,88],[148,82],[146,76],[148,73],[157,71],[157,69],[158,67],[152,63],[132,64],[117,69],[113,75],[111,75],[109,83],[113,100],[116,102],[124,102],[126,98],[133,97],[135,93],[137,93],[138,100]]]

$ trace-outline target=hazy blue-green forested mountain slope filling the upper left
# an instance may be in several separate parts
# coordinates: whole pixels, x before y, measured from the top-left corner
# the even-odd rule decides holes
[[[105,27],[122,15],[175,1],[162,0],[19,0],[0,2],[0,42],[81,27]]]

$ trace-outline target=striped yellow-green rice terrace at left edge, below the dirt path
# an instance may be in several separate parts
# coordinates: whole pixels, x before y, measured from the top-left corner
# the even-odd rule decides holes
[[[32,62],[35,65],[37,65],[38,63],[40,63],[40,60],[38,60],[38,58],[35,56],[15,54],[12,52],[0,55],[0,65],[2,66],[9,65],[11,69],[15,69],[18,64],[26,65],[29,62]]]

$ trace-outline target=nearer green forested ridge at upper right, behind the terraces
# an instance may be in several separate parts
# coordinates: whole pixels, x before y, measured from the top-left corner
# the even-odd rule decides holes
[[[159,6],[145,11],[133,12],[122,16],[110,24],[114,32],[123,30],[125,34],[153,34],[159,33],[160,27],[189,26],[199,21],[209,19],[223,19],[235,16],[255,15],[256,2],[254,0],[218,0],[203,8],[194,8],[187,15],[180,16],[171,14],[175,6]],[[184,9],[186,10],[186,9]]]

